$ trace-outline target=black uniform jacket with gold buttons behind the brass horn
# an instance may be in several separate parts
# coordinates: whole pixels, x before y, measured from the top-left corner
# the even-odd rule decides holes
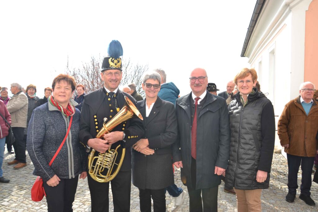
[[[108,121],[111,120],[117,113],[116,109],[121,109],[124,106],[126,102],[124,96],[127,96],[136,105],[136,100],[132,96],[120,90],[117,91],[115,97],[117,105],[111,104],[112,100],[107,95],[105,88],[100,88],[84,96],[79,130],[79,139],[84,145],[87,145],[89,139],[96,137],[98,130],[103,127],[104,118],[107,118]],[[124,121],[112,130],[112,132],[114,131],[124,131],[126,134],[126,142],[118,141],[112,144],[112,148],[118,145],[126,147],[125,158],[120,170],[129,171],[131,169],[131,151],[128,147],[135,144],[144,134],[142,120],[132,118]]]

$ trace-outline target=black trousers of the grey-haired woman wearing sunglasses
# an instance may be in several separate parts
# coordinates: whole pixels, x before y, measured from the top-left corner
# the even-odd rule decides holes
[[[166,211],[166,188],[140,189],[139,201],[141,212],[151,212],[151,198],[154,201],[154,212]]]

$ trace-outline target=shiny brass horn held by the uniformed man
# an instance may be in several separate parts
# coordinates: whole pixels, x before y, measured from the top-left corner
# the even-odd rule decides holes
[[[101,139],[104,134],[109,133],[117,125],[133,118],[134,116],[143,120],[142,115],[127,96],[125,96],[125,100],[125,105],[110,121],[106,123],[107,119],[104,118],[103,127],[96,135],[96,138]],[[95,150],[92,149],[91,153],[88,155],[88,173],[95,181],[109,182],[118,174],[122,161],[125,157],[125,148],[122,148],[121,156],[119,156],[119,153],[117,152],[120,146],[121,145],[118,145],[115,149],[111,149],[110,146],[105,153],[99,153],[98,156],[94,156]],[[119,162],[116,161],[117,156],[120,157]],[[117,166],[117,168],[114,166]],[[102,174],[103,172],[107,172],[106,175]]]

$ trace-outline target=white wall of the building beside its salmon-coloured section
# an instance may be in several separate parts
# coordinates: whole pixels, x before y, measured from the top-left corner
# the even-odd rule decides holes
[[[276,129],[284,106],[299,95],[299,85],[304,81],[305,17],[311,1],[292,1],[277,24],[264,35],[266,38],[260,38],[264,42],[258,45],[263,47],[249,57],[251,66],[259,74],[261,91],[268,93],[267,98],[273,103]],[[275,52],[273,75],[272,52]],[[275,148],[281,148],[277,135]],[[286,157],[284,152],[282,154]]]

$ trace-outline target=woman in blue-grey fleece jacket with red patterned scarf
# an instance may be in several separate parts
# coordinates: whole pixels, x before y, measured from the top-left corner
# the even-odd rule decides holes
[[[73,211],[78,178],[87,176],[85,148],[79,142],[80,113],[71,99],[74,78],[58,75],[52,83],[49,101],[33,110],[29,123],[27,148],[34,175],[43,179],[48,211]],[[71,128],[59,154],[49,166],[70,124]],[[79,177],[80,175],[80,177]]]

